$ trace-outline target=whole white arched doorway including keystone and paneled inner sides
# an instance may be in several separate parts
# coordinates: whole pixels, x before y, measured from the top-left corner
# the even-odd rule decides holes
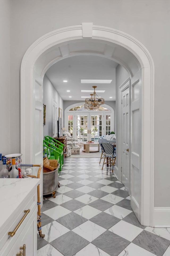
[[[139,166],[141,180],[140,197],[136,200],[138,218],[142,225],[153,226],[154,208],[154,64],[147,49],[135,38],[121,31],[107,27],[83,23],[80,26],[66,27],[39,38],[25,53],[21,65],[21,152],[24,162],[42,162],[42,89],[43,76],[46,70],[59,59],[68,57],[66,42],[107,42],[105,57],[120,63],[129,72],[133,81],[141,86],[139,99],[134,100],[133,110],[139,110],[141,121],[140,152],[134,154],[134,162]],[[50,58],[50,53],[60,46],[63,54]],[[120,49],[114,54],[111,46]],[[124,52],[131,56],[126,61]],[[122,54],[122,53],[123,54]],[[77,53],[78,54],[78,53]],[[92,54],[92,53],[91,53]],[[98,54],[94,50],[93,54]],[[133,68],[137,64],[138,70]],[[140,74],[135,80],[135,74]],[[145,99],[145,104],[144,104]],[[137,112],[135,112],[137,113]],[[133,135],[133,129],[131,130]],[[38,135],[38,136],[37,136]],[[133,148],[133,145],[132,145]],[[145,149],[145,150],[144,150]],[[140,163],[139,163],[140,162]],[[135,177],[134,177],[135,179]],[[136,180],[134,180],[136,181]],[[145,187],[145,189],[144,189]],[[134,200],[135,202],[135,200]]]

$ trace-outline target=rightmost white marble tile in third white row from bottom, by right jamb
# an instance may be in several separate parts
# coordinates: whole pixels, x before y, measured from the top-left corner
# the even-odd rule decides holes
[[[102,198],[101,198],[102,199]],[[123,207],[120,207],[118,205],[113,205],[112,207],[108,208],[107,210],[105,210],[104,212],[115,216],[119,219],[123,219],[125,218],[128,214],[130,214],[132,211],[125,209]]]

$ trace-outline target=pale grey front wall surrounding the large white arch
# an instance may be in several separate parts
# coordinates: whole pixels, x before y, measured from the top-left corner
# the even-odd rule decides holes
[[[10,127],[11,151],[20,150],[19,74],[22,57],[28,47],[50,31],[82,22],[124,31],[147,48],[155,64],[155,207],[169,207],[169,10],[169,0],[12,0],[10,103],[16,119]],[[3,13],[6,14],[4,10]],[[6,117],[6,123],[8,119]]]

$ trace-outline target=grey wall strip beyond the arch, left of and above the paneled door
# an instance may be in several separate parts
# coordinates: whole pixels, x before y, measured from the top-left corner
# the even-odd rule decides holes
[[[121,65],[116,68],[116,156],[118,157],[118,123],[119,123],[119,86],[129,77],[128,72]],[[117,158],[116,157],[116,158]],[[118,158],[117,158],[118,159]],[[116,161],[116,166],[118,167],[118,161]]]

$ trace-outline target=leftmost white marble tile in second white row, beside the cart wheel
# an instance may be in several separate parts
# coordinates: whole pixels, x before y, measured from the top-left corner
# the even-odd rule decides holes
[[[57,221],[53,221],[42,227],[42,234],[45,234],[44,239],[49,243],[69,231],[70,229],[67,229]]]

